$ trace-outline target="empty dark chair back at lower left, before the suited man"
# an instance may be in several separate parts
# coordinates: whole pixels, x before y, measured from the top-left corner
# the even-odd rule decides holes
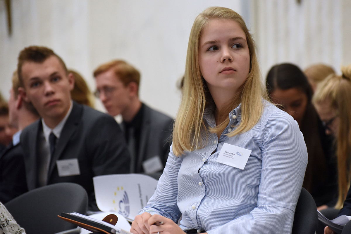
[[[86,214],[88,195],[73,183],[36,188],[7,202],[5,207],[27,234],[52,234],[76,228],[60,219],[61,212]]]

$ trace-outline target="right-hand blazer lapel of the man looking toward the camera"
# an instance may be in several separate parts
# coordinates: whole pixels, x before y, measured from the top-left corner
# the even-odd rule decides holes
[[[73,102],[72,111],[69,114],[64,127],[62,128],[60,138],[56,143],[54,155],[50,160],[48,178],[50,178],[56,166],[56,161],[61,158],[62,152],[64,151],[67,143],[69,142],[69,139],[71,138],[72,134],[77,130],[79,120],[81,119],[82,111],[83,106]]]

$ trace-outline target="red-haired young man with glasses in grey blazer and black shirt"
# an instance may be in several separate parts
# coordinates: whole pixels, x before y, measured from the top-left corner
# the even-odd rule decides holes
[[[111,116],[122,116],[121,128],[132,157],[131,172],[158,179],[168,158],[173,119],[140,101],[140,73],[127,62],[113,60],[101,64],[94,77],[95,95]]]

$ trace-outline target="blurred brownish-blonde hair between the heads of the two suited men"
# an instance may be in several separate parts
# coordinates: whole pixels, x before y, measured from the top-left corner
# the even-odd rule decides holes
[[[94,108],[95,99],[84,78],[72,69],[68,70],[68,72],[72,73],[74,77],[74,88],[71,91],[72,100]]]

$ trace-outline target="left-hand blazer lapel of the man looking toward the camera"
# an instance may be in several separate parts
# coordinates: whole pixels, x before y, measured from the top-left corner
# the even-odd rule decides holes
[[[32,190],[36,187],[38,181],[38,144],[39,142],[39,131],[42,131],[42,124],[41,119],[39,119],[33,125],[33,132],[28,135],[29,139],[26,139],[28,142],[29,152],[28,154],[24,154],[24,162],[26,168],[26,179],[27,179],[27,186],[28,190]],[[20,143],[22,144],[22,143]]]

